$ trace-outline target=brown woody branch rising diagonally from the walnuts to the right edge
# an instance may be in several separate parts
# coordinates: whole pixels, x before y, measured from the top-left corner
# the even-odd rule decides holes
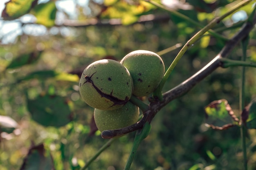
[[[238,31],[222,48],[220,53],[216,55],[211,62],[209,62],[206,66],[204,66],[200,71],[192,75],[189,79],[186,79],[181,84],[177,85],[170,91],[167,91],[163,94],[163,100],[155,100],[148,105],[148,110],[143,113],[143,117],[136,124],[131,126],[117,129],[117,130],[105,130],[101,133],[101,137],[103,138],[112,138],[120,135],[124,135],[126,133],[141,129],[146,121],[151,122],[158,111],[166,106],[173,99],[177,99],[178,97],[184,95],[188,91],[190,91],[196,84],[198,84],[205,77],[210,75],[213,71],[215,71],[218,67],[222,66],[221,58],[227,57],[229,53],[234,49],[234,47],[246,38],[249,35],[249,32],[254,28],[254,24],[256,23],[256,16],[254,16],[253,23],[246,22],[240,31]]]

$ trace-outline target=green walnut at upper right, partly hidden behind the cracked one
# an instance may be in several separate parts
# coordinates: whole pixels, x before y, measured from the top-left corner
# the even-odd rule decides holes
[[[127,54],[120,62],[133,81],[133,95],[143,97],[152,93],[164,77],[164,62],[152,51],[137,50]]]

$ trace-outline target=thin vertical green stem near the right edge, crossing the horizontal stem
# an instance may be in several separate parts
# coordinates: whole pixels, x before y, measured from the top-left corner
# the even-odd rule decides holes
[[[246,60],[246,51],[247,51],[248,42],[249,42],[249,37],[242,40],[242,50],[243,50],[242,61],[243,62],[245,62]],[[240,95],[239,95],[240,113],[242,113],[242,110],[245,108],[245,66],[242,67],[241,76],[242,77],[241,77]],[[240,133],[242,138],[244,170],[247,170],[247,150],[246,150],[246,140],[245,140],[246,131],[247,129],[242,121]]]

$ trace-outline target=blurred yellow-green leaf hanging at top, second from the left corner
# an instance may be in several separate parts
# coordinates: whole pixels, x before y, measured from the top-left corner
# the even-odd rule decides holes
[[[47,27],[55,25],[56,5],[54,1],[38,4],[31,12],[36,17],[36,23]]]

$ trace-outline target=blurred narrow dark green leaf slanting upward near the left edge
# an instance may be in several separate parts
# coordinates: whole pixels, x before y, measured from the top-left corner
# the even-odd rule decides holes
[[[11,63],[7,66],[9,68],[18,68],[27,64],[33,64],[40,58],[43,51],[33,51],[32,53],[22,54],[16,57]]]

